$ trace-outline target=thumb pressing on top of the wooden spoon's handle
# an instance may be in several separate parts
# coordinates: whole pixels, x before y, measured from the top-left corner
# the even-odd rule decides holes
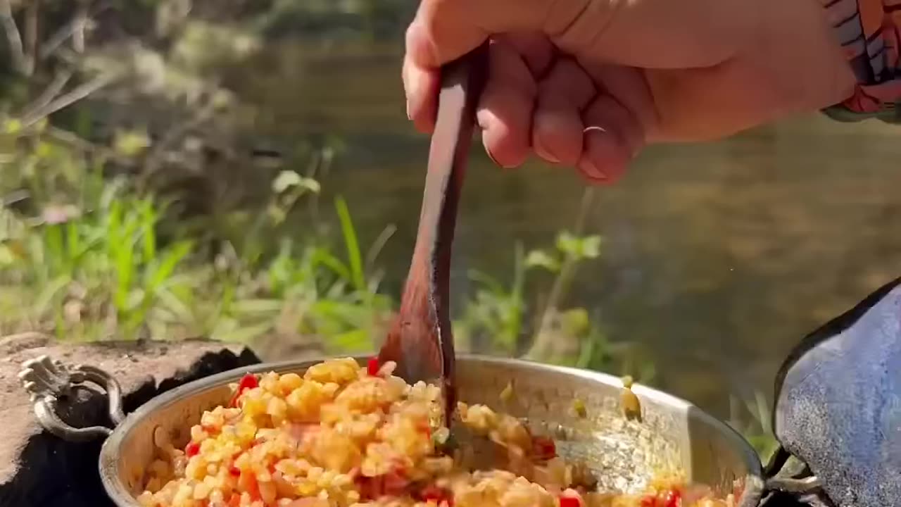
[[[592,4],[606,0],[423,0],[406,32],[406,58],[437,69],[504,32],[565,31]]]

